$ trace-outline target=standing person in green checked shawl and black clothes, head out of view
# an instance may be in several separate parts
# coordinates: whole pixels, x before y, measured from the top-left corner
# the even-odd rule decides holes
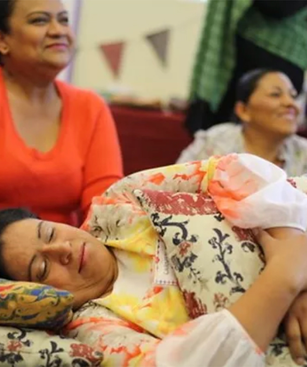
[[[307,0],[210,0],[206,5],[185,126],[229,121],[243,74],[278,69],[298,93],[307,69]]]

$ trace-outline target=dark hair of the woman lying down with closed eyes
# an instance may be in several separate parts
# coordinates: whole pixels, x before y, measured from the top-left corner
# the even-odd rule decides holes
[[[0,2],[1,1],[2,0],[0,0]],[[0,278],[14,280],[6,271],[6,266],[3,261],[2,248],[4,246],[4,242],[2,239],[2,235],[10,224],[29,218],[38,218],[38,216],[24,208],[10,208],[0,210]]]

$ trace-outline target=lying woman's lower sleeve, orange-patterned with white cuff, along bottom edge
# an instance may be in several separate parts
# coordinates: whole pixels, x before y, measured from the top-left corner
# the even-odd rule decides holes
[[[229,361],[238,367],[263,365],[263,353],[226,310],[186,323],[163,340],[102,307],[93,316],[75,318],[66,334],[103,351],[104,365],[209,367]]]

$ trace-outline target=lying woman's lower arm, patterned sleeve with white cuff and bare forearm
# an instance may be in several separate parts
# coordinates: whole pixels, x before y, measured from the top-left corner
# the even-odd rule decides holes
[[[261,349],[267,348],[291,302],[307,285],[303,271],[307,238],[297,234],[277,240],[261,232],[259,240],[267,267],[228,311],[201,316],[160,340],[96,307],[92,314],[81,314],[70,323],[68,335],[76,334],[102,350],[107,365],[263,365]]]

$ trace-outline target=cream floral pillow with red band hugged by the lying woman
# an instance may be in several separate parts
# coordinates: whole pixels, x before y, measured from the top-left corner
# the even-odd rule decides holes
[[[249,229],[232,226],[207,194],[134,190],[160,237],[191,318],[234,303],[255,281],[264,257]],[[296,365],[283,337],[267,365]]]

